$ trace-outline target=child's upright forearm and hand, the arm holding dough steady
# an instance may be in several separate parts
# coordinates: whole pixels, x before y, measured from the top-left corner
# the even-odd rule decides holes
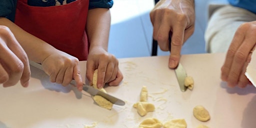
[[[123,76],[118,69],[118,60],[107,52],[110,29],[110,11],[108,8],[89,9],[86,31],[90,42],[87,59],[86,77],[92,81],[94,70],[98,69],[97,87],[105,83],[118,85]]]

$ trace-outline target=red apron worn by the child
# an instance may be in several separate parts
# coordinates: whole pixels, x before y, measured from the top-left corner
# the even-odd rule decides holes
[[[89,0],[75,0],[58,6],[29,6],[17,0],[15,23],[25,31],[79,60],[88,56],[85,24]]]

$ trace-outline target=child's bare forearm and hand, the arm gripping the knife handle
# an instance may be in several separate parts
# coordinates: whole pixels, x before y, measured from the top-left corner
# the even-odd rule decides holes
[[[45,73],[50,76],[51,82],[67,85],[73,78],[81,90],[82,80],[77,58],[57,50],[50,44],[24,31],[7,18],[0,17],[0,25],[9,27],[27,53],[28,58],[42,64]]]

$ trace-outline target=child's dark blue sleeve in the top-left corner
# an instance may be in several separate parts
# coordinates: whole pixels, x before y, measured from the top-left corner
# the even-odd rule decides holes
[[[1,0],[0,16],[14,21],[17,0]]]

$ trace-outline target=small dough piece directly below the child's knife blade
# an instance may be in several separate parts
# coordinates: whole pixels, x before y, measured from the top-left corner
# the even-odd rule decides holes
[[[108,101],[107,99],[103,98],[100,95],[94,95],[93,96],[94,101],[101,107],[106,108],[106,109],[111,109],[113,106],[113,103]]]

